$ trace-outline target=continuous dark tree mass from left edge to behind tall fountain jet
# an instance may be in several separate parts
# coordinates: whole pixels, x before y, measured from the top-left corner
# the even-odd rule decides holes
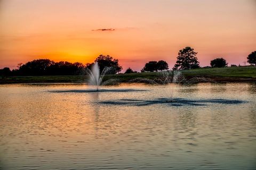
[[[95,61],[99,63],[100,68],[112,67],[110,73],[116,73],[122,70],[118,60],[100,55]],[[0,70],[0,75],[80,75],[84,74],[85,69],[91,69],[93,63],[70,63],[70,62],[54,62],[49,59],[39,59],[18,64],[18,69],[10,70],[8,67]],[[103,70],[103,69],[102,69]]]

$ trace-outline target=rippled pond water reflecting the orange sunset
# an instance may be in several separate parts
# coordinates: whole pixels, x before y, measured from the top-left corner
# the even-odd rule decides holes
[[[0,169],[256,168],[255,83],[86,89],[0,85]]]

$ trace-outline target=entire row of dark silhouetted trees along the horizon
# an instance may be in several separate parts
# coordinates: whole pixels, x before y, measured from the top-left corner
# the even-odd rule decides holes
[[[198,59],[196,57],[197,52],[191,47],[185,47],[179,50],[177,61],[172,70],[189,70],[197,69],[200,67]],[[116,74],[121,72],[123,67],[119,65],[118,60],[107,55],[99,55],[94,62],[98,62],[100,71],[105,67],[110,67],[108,74]],[[247,62],[256,66],[256,51],[247,56]],[[9,67],[0,69],[0,75],[80,75],[85,74],[86,69],[90,69],[93,63],[70,63],[70,62],[54,62],[49,59],[39,59],[27,62],[25,64],[18,64],[18,69],[10,70]],[[210,62],[211,67],[225,67],[228,65],[227,61],[223,57],[215,58]],[[236,66],[232,65],[231,66]],[[210,67],[210,66],[207,66]],[[141,69],[141,72],[154,72],[169,70],[167,62],[149,61]],[[137,73],[130,67],[125,73]]]

